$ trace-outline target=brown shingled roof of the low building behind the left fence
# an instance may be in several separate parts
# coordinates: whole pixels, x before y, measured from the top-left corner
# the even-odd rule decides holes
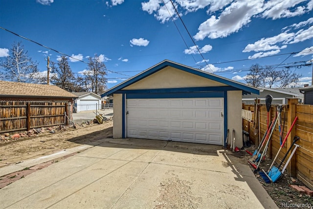
[[[76,98],[77,96],[53,85],[0,81],[0,97]]]

